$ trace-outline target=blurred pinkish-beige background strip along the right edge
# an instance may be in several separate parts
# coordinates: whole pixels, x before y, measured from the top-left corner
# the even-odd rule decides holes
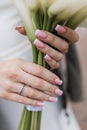
[[[76,43],[83,76],[84,101],[72,103],[73,111],[80,124],[81,130],[87,130],[87,29],[77,28],[80,40]]]

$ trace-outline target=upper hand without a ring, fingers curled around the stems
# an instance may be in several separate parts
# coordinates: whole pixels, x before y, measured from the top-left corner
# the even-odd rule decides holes
[[[26,35],[24,27],[16,27],[16,30]],[[75,43],[79,39],[77,32],[66,26],[57,25],[55,30],[65,40],[47,31],[36,30],[37,39],[34,41],[36,47],[45,54],[45,60],[52,69],[58,68],[59,61],[68,52],[70,43]]]

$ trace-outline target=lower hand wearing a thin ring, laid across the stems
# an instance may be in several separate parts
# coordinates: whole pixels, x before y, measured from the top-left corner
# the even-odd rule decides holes
[[[0,62],[0,98],[19,103],[43,106],[55,102],[62,91],[62,81],[44,67],[22,59]]]

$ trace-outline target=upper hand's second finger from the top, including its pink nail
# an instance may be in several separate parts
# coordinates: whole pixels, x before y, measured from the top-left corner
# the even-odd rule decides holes
[[[36,30],[35,35],[38,37],[39,41],[51,45],[53,48],[57,49],[57,51],[59,50],[62,53],[66,53],[68,51],[69,45],[67,41],[56,35],[53,35],[50,32],[43,30]]]

